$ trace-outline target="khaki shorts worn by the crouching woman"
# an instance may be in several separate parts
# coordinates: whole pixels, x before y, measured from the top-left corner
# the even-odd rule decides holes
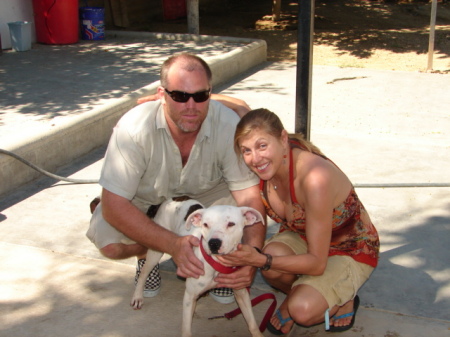
[[[308,250],[306,241],[294,232],[285,231],[275,234],[266,241],[265,245],[272,242],[287,245],[295,254],[305,254]],[[349,256],[330,256],[322,275],[299,275],[292,287],[299,284],[310,285],[322,294],[329,308],[335,305],[342,306],[356,296],[358,289],[366,282],[373,269],[365,263],[356,262]]]

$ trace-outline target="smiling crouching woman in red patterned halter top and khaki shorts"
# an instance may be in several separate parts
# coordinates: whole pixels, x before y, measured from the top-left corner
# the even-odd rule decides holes
[[[266,109],[250,111],[236,128],[235,151],[260,177],[267,214],[280,224],[263,252],[240,245],[222,258],[262,268],[287,296],[268,329],[324,322],[329,331],[353,326],[358,289],[378,262],[379,239],[347,176],[315,146],[289,138]]]

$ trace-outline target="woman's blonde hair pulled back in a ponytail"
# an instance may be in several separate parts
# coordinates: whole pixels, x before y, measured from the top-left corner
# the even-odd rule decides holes
[[[261,108],[249,111],[239,121],[234,133],[234,151],[239,157],[241,156],[240,140],[247,137],[253,130],[261,130],[281,139],[284,127],[280,118],[270,110]],[[323,156],[320,149],[307,141],[302,134],[289,134],[289,139],[295,139],[303,150]]]

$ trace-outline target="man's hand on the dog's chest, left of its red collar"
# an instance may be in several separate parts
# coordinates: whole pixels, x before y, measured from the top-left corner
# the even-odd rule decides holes
[[[193,247],[198,247],[200,240],[195,236],[181,236],[174,243],[172,258],[177,265],[177,275],[199,278],[204,275],[203,262],[195,256]]]

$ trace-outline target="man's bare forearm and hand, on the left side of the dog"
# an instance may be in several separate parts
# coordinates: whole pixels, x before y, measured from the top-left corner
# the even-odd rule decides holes
[[[199,241],[193,236],[180,237],[159,226],[129,200],[103,189],[104,219],[118,231],[145,247],[168,253],[182,277],[198,278],[203,275],[203,264],[192,251]]]

